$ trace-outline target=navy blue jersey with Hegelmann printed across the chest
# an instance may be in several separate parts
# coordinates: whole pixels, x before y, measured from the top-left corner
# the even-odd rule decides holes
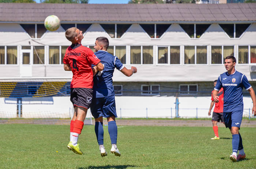
[[[246,76],[238,71],[235,71],[231,75],[225,72],[219,75],[214,90],[219,91],[222,87],[224,92],[223,112],[243,110],[243,87],[246,90],[252,87]]]

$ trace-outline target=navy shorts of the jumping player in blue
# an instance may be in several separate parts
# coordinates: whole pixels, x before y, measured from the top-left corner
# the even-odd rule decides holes
[[[117,117],[115,95],[93,98],[90,108],[94,118]]]

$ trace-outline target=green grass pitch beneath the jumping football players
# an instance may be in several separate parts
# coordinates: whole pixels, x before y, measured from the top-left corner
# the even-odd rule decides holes
[[[231,162],[232,137],[219,127],[220,140],[211,140],[212,127],[120,126],[118,149],[121,157],[110,153],[110,139],[104,126],[105,148],[101,157],[94,126],[84,126],[79,136],[84,155],[67,149],[69,126],[0,125],[0,168],[256,168],[256,130],[241,128],[246,159]]]

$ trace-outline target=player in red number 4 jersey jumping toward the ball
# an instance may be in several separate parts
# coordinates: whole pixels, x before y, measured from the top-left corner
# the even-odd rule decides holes
[[[72,42],[71,46],[66,50],[63,63],[64,70],[72,71],[73,73],[70,85],[70,101],[75,108],[74,116],[70,123],[68,149],[76,154],[83,154],[77,141],[93,97],[93,70],[91,69],[91,64],[97,65],[98,71],[102,71],[104,67],[100,63],[101,60],[97,58],[90,48],[82,46],[82,31],[72,27],[65,32],[65,36]]]

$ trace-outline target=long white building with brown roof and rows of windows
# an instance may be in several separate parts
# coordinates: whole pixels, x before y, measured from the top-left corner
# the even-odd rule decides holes
[[[59,30],[46,31],[48,15],[60,18]],[[209,97],[228,55],[256,84],[255,3],[0,3],[0,96],[68,95],[72,72],[64,71],[62,59],[70,45],[65,30],[73,26],[84,32],[84,46],[93,49],[105,36],[110,53],[138,68],[129,78],[114,72],[117,95]],[[42,87],[49,82],[50,91]]]

